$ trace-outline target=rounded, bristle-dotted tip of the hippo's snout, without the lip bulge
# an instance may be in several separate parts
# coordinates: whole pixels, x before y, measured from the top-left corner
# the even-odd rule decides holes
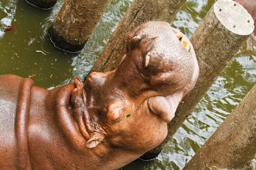
[[[127,52],[140,51],[140,71],[155,91],[169,95],[184,88],[195,70],[189,39],[166,22],[148,22],[128,37]],[[196,62],[197,63],[197,62]]]

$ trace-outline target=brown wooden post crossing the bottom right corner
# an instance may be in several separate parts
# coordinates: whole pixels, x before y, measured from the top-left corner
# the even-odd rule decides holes
[[[254,170],[256,155],[256,85],[236,106],[183,170],[212,167]]]

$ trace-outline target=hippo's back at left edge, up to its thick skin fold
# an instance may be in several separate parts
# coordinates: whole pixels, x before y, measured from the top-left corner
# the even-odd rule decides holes
[[[20,155],[29,154],[26,127],[33,85],[31,79],[0,76],[0,167],[3,170],[30,169],[29,156]]]

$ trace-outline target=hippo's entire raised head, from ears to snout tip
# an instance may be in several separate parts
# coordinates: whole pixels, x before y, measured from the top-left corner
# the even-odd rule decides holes
[[[165,139],[199,69],[190,41],[166,22],[139,26],[126,46],[114,71],[93,72],[84,83],[74,78],[72,102],[87,147],[101,143],[140,156]]]

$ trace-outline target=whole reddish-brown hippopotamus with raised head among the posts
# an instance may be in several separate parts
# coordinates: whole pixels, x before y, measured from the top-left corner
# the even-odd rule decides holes
[[[160,21],[126,47],[115,70],[52,90],[0,76],[1,170],[116,170],[157,147],[198,78],[195,51]]]

